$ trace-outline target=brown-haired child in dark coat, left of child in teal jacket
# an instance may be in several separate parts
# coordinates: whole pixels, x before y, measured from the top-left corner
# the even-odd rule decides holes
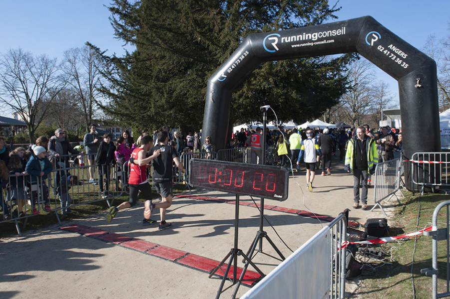
[[[12,202],[15,199],[17,202],[17,210],[12,212],[14,218],[25,216],[23,206],[25,205],[25,165],[22,165],[22,160],[16,155],[9,157],[9,188],[6,197]]]

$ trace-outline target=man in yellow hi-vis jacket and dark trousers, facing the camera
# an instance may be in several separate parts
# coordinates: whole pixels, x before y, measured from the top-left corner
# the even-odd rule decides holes
[[[359,207],[361,181],[363,187],[361,208],[367,209],[367,178],[369,174],[374,174],[377,164],[378,152],[374,140],[366,135],[366,128],[358,127],[356,137],[349,140],[344,167],[344,170],[353,173],[353,207],[355,209]]]

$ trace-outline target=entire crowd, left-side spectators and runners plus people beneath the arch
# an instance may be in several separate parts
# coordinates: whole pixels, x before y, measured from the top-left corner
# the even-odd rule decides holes
[[[259,127],[255,131],[241,129],[240,132],[232,135],[232,140],[227,143],[227,147],[250,147],[252,163],[261,164],[262,131]],[[358,127],[356,130],[343,128],[323,130],[306,128],[300,131],[296,128],[282,131],[267,130],[265,140],[267,146],[276,148],[276,160],[279,166],[298,171],[299,165],[302,162],[305,164],[307,188],[310,192],[313,191],[316,168],[321,169],[321,175],[331,175],[332,158],[338,157],[336,152],[339,150],[339,161],[343,162],[345,159],[345,170],[354,175],[354,208],[359,207],[361,200],[362,209],[367,209],[367,188],[371,183],[371,175],[376,164],[392,159],[394,151],[403,150],[401,131],[388,126],[379,130],[371,129],[368,125]],[[68,170],[58,171],[58,169],[68,168],[70,155],[78,155],[79,164],[83,166],[86,162],[88,166],[87,183],[98,184],[103,198],[109,195],[111,165],[117,164],[118,170],[123,169],[126,162],[130,165],[127,178],[130,199],[117,207],[110,208],[106,215],[108,222],[119,210],[134,206],[137,203],[138,193],[141,192],[146,199],[143,224],[156,223],[150,216],[153,209],[159,208],[159,229],[165,229],[171,226],[165,221],[165,211],[172,202],[172,167],[176,165],[180,171],[184,172],[179,159],[180,154],[215,151],[209,136],[205,138],[204,145],[201,146],[201,130],[194,133],[189,131],[186,136],[183,136],[179,131],[170,131],[167,126],[153,132],[152,135],[143,130],[136,142],[128,131],[124,131],[122,136],[113,142],[110,134],[99,136],[96,126],[91,125],[89,133],[84,136],[84,149],[85,153],[79,147],[73,148],[66,132],[62,129],[55,130],[55,135],[49,139],[45,136],[37,138],[35,144],[27,149],[20,147],[10,152],[5,147],[4,139],[0,137],[0,189],[2,189],[0,203],[3,217],[10,219],[11,216],[26,215],[24,205],[25,200],[29,198],[27,192],[31,193],[31,213],[39,214],[36,208],[39,197],[37,191],[29,192],[24,189],[24,186],[37,184],[37,182],[40,183],[41,190],[45,190],[40,192],[40,200],[44,203],[43,209],[51,211],[45,180],[54,169],[56,169],[54,194],[57,194],[60,199],[63,215],[71,213],[68,189],[76,176],[70,175]],[[162,199],[156,204],[152,203],[151,189],[146,176],[146,168],[150,161],[153,161],[153,183]],[[95,179],[95,170],[98,181]],[[28,175],[26,182],[25,175]],[[9,184],[8,192],[6,192],[6,198],[3,198],[3,189],[7,187],[7,184]],[[118,185],[116,188],[119,188]],[[11,200],[14,200],[17,205],[12,215],[7,205],[7,202]]]

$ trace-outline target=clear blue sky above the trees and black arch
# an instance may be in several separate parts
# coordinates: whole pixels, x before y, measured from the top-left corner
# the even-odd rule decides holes
[[[331,5],[334,3],[336,0],[330,0]],[[89,41],[107,49],[107,54],[120,55],[124,53],[123,43],[114,38],[110,14],[104,7],[108,4],[109,0],[2,0],[0,54],[20,47],[60,60],[65,50]],[[443,38],[450,34],[449,0],[340,0],[338,5],[342,6],[336,13],[339,19],[371,15],[421,50],[429,35]],[[381,70],[377,77],[390,85],[398,102],[397,81]]]

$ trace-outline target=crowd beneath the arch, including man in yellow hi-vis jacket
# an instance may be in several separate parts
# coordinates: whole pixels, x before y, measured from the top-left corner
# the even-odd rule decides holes
[[[254,131],[243,128],[232,136],[230,145],[235,147],[250,147],[252,163],[262,161],[262,132],[258,127]],[[313,191],[316,164],[321,169],[321,175],[331,175],[332,157],[339,150],[339,161],[344,162],[345,169],[354,175],[354,208],[360,202],[362,188],[362,209],[367,209],[367,189],[371,184],[371,175],[379,162],[394,158],[395,151],[403,151],[401,130],[380,127],[372,129],[364,125],[355,129],[344,128],[320,129],[306,128],[292,130],[266,130],[266,146],[275,146],[277,164],[298,170],[303,162],[306,167],[307,188]]]

